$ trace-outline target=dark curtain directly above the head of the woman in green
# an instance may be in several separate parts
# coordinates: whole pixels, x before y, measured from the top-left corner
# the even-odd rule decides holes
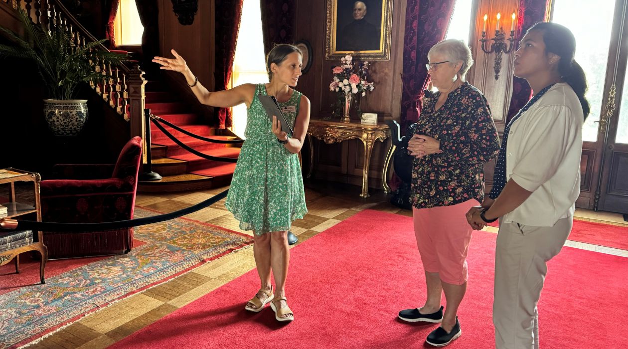
[[[260,0],[264,53],[280,43],[293,43],[296,0]]]

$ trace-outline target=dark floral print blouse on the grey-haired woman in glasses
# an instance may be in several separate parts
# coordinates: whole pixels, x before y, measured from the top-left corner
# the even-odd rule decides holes
[[[484,164],[499,153],[499,136],[484,95],[465,82],[435,110],[440,92],[426,94],[414,134],[440,141],[442,153],[414,159],[411,202],[431,208],[484,200]]]

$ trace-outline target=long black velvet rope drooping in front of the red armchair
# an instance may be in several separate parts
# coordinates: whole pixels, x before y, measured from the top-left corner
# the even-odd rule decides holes
[[[227,193],[229,189],[222,191],[218,195],[213,196],[212,198],[208,198],[205,201],[197,203],[196,205],[190,206],[188,208],[183,208],[183,210],[178,210],[175,212],[164,213],[163,215],[155,215],[151,217],[144,218],[135,218],[129,220],[119,220],[116,222],[104,222],[104,223],[53,223],[53,222],[36,222],[33,220],[6,220],[3,222],[3,219],[0,219],[0,226],[4,229],[14,229],[14,230],[43,230],[46,232],[99,232],[100,230],[113,230],[113,229],[122,229],[122,228],[131,228],[138,227],[139,225],[146,225],[158,222],[164,222],[165,220],[171,220],[174,218],[179,218],[183,215],[187,215],[188,213],[197,212],[198,210],[202,210],[205,207],[209,207],[210,205],[214,205],[218,201],[227,197]],[[16,226],[13,226],[10,222],[17,222]]]

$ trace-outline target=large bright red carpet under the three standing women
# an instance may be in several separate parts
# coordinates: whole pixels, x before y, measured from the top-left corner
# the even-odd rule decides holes
[[[494,348],[496,237],[474,233],[458,314],[463,335],[448,348]],[[251,271],[112,348],[428,347],[435,325],[396,319],[425,299],[415,246],[411,218],[365,210],[291,250],[286,291],[293,323],[279,325],[269,308],[244,310],[259,286]],[[624,257],[565,247],[550,262],[539,303],[541,348],[625,348],[627,273]]]

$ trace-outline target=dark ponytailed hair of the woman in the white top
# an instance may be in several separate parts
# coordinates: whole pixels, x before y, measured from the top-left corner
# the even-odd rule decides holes
[[[536,23],[528,31],[531,30],[543,31],[545,50],[560,56],[558,72],[561,78],[571,86],[573,92],[578,96],[582,106],[582,114],[586,120],[591,110],[589,102],[585,98],[587,77],[582,67],[573,59],[576,53],[576,38],[573,36],[573,33],[565,26],[551,22]]]

